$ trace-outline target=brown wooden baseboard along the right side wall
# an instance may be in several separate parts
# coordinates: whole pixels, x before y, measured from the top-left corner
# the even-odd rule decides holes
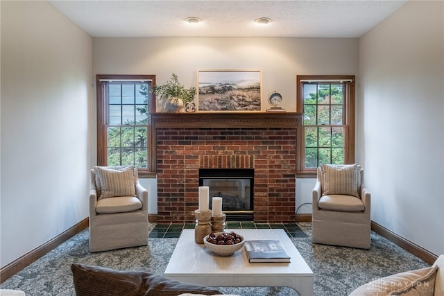
[[[433,264],[438,258],[436,254],[425,250],[423,247],[416,245],[416,243],[412,243],[411,241],[403,238],[402,236],[399,236],[398,234],[395,234],[394,232],[391,232],[384,226],[379,225],[373,221],[371,221],[371,228],[380,236],[387,238],[388,241],[391,241],[395,245],[402,247],[404,250],[407,250],[411,254],[417,256],[419,259],[422,259],[429,264]]]

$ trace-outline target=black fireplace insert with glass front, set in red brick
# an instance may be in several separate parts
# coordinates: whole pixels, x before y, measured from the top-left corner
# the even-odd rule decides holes
[[[227,221],[253,221],[254,169],[201,168],[199,186],[210,189],[212,198],[222,198],[222,212]]]

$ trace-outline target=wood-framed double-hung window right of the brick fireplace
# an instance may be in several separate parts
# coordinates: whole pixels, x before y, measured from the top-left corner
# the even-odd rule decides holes
[[[355,76],[298,76],[302,107],[298,171],[355,161]]]

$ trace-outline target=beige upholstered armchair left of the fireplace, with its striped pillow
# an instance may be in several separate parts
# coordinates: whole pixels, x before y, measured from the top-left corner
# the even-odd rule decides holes
[[[148,191],[134,166],[94,166],[89,191],[89,251],[148,244]]]

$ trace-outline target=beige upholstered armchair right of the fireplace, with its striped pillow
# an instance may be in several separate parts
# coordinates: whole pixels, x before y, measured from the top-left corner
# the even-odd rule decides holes
[[[370,192],[361,166],[320,166],[312,201],[313,243],[370,248]]]

